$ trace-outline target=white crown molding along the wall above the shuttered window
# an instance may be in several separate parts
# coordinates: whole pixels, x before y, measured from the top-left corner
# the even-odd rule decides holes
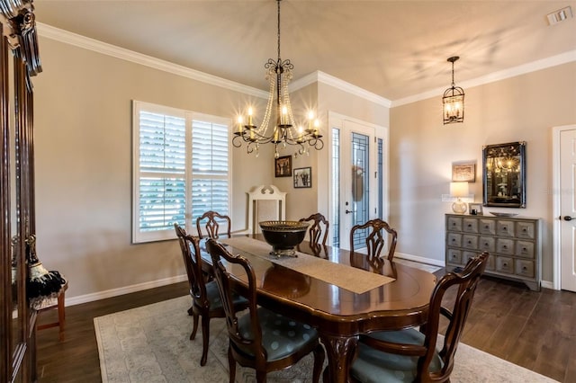
[[[64,42],[70,45],[74,45],[78,48],[93,50],[94,52],[102,53],[103,55],[112,56],[114,58],[121,58],[123,60],[130,61],[145,67],[152,67],[154,69],[172,73],[177,76],[183,76],[196,81],[200,81],[202,83],[220,86],[222,88],[242,94],[249,94],[264,99],[268,97],[268,93],[266,91],[254,88],[252,86],[242,85],[218,76],[212,76],[207,73],[203,73],[199,70],[179,66],[159,58],[142,55],[129,49],[119,48],[112,44],[108,44],[100,40],[90,39],[70,31],[61,30],[48,24],[43,24],[41,22],[37,22],[36,26],[40,36],[51,40]]]

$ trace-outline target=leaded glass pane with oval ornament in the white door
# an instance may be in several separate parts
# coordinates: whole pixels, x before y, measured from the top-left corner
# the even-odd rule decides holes
[[[369,219],[370,200],[368,174],[370,169],[369,137],[364,134],[352,133],[352,225],[364,224]],[[354,245],[356,248],[365,244],[365,230],[356,230]]]

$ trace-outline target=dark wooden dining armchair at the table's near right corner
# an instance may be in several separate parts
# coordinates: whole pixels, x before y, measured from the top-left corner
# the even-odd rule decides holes
[[[362,335],[350,377],[363,383],[449,381],[455,352],[488,257],[488,253],[482,253],[471,258],[463,272],[450,272],[437,282],[430,298],[428,321],[419,330],[410,328]],[[443,306],[447,290],[455,291],[452,309]],[[442,349],[438,352],[441,316],[446,317],[448,325]]]

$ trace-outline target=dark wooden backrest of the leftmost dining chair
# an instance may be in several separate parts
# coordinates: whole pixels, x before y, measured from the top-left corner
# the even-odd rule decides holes
[[[178,243],[182,250],[182,258],[188,284],[190,285],[190,294],[193,296],[196,304],[202,307],[209,307],[210,302],[206,294],[206,285],[202,275],[202,257],[200,255],[200,238],[186,234],[184,228],[177,223],[174,224]]]

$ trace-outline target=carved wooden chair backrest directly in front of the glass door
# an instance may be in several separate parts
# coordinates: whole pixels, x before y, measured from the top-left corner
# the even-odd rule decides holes
[[[350,254],[355,252],[355,235],[356,231],[368,229],[365,244],[368,251],[369,258],[377,258],[382,253],[383,249],[387,246],[388,255],[386,256],[389,261],[394,257],[396,250],[396,243],[398,242],[398,233],[395,229],[388,225],[388,222],[380,218],[375,218],[367,221],[365,224],[356,225],[350,230]],[[383,230],[386,232],[383,235]],[[386,245],[386,238],[389,238],[389,244]]]

